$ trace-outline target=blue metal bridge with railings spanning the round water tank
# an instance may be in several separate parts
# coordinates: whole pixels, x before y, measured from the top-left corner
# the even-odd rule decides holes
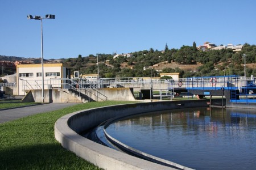
[[[195,95],[224,95],[232,103],[256,103],[255,80],[247,80],[243,76],[203,76],[172,81],[168,88],[177,93],[188,92]]]

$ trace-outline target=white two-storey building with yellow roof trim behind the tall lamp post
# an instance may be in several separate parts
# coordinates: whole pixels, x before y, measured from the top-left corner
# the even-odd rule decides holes
[[[16,83],[18,95],[26,95],[26,90],[42,90],[42,65],[25,64],[16,65]],[[63,63],[44,64],[44,89],[61,88],[62,78],[70,75],[70,69]]]

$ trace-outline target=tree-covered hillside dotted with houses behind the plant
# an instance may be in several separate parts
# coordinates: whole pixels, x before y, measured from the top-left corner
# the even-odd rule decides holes
[[[249,44],[243,45],[240,52],[234,52],[232,49],[199,51],[192,46],[182,46],[180,49],[167,47],[164,51],[151,48],[129,54],[97,55],[98,65],[97,56],[93,55],[44,59],[44,63],[65,63],[71,67],[72,72],[79,70],[81,74],[97,74],[99,69],[101,78],[160,76],[159,73],[180,73],[180,78],[186,78],[202,75],[244,75],[243,64],[246,55],[246,75],[256,75],[256,46]],[[40,58],[0,56],[2,63],[17,60],[20,63],[41,63]]]

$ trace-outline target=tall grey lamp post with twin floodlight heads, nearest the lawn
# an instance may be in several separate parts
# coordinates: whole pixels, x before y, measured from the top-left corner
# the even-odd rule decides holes
[[[27,19],[41,20],[41,63],[42,63],[42,102],[44,103],[44,50],[43,50],[43,19],[55,19],[55,15],[47,14],[45,18],[41,16],[27,15]]]

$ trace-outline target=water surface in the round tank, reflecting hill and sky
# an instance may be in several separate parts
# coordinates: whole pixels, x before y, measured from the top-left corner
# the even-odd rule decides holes
[[[126,118],[106,130],[122,143],[195,169],[255,169],[255,110],[189,108]]]

